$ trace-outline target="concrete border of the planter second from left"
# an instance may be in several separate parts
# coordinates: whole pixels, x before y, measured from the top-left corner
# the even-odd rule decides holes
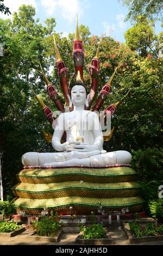
[[[36,231],[32,231],[30,235],[26,235],[23,238],[28,241],[59,242],[61,233],[62,233],[62,230],[59,230],[57,236],[37,236]]]

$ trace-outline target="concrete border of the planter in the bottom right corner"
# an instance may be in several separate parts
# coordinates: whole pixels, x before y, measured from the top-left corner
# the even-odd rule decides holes
[[[144,242],[153,242],[153,241],[163,241],[163,235],[159,236],[141,236],[141,237],[133,237],[129,231],[129,225],[124,225],[124,231],[130,243],[144,243]]]

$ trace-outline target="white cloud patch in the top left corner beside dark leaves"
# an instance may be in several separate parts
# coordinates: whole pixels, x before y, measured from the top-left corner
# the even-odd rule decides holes
[[[4,5],[9,8],[11,14],[14,13],[14,11],[17,11],[20,5],[22,4],[32,4],[36,8],[36,1],[35,0],[5,0]],[[3,19],[11,19],[12,15],[2,14],[0,13],[0,17]]]

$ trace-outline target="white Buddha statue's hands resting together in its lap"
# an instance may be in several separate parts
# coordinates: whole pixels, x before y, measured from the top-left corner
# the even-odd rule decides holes
[[[96,144],[93,145],[87,145],[87,144],[76,144],[76,145],[67,145],[66,151],[79,151],[79,152],[87,152],[87,151],[93,151],[93,150],[99,150],[99,147]]]

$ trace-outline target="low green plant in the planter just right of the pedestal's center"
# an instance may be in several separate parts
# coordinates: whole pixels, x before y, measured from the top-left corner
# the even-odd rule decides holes
[[[80,227],[82,239],[102,239],[107,233],[107,230],[102,224],[91,224],[89,227]]]

